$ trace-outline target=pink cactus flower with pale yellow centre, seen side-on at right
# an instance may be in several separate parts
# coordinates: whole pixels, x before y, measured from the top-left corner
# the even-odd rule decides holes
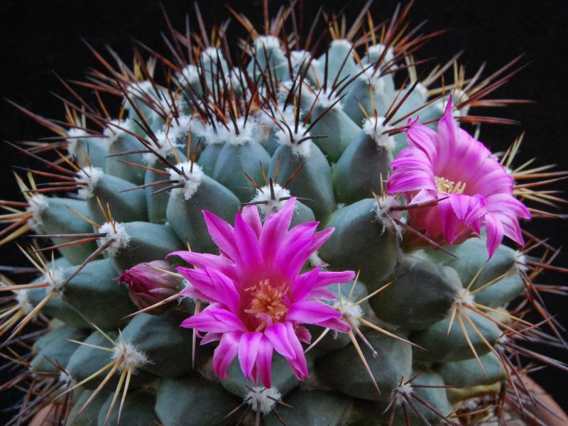
[[[518,218],[530,219],[530,212],[513,197],[513,178],[491,151],[459,129],[452,99],[437,133],[417,120],[409,125],[409,147],[393,161],[387,191],[411,204],[444,200],[410,209],[408,224],[439,244],[461,243],[485,226],[490,258],[504,235],[523,246]]]

